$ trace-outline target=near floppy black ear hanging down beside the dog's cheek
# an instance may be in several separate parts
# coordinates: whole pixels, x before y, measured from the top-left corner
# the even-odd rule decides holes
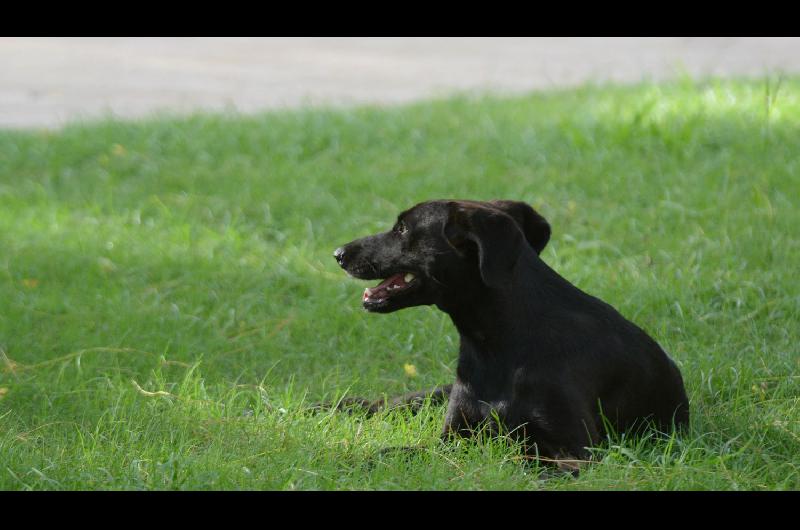
[[[471,241],[478,247],[478,266],[483,283],[499,288],[508,282],[511,271],[525,245],[517,222],[495,208],[448,204],[445,238],[456,249]]]

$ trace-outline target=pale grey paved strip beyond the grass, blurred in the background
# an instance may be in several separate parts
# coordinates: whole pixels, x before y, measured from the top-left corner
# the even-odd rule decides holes
[[[0,38],[0,127],[800,72],[800,38]]]

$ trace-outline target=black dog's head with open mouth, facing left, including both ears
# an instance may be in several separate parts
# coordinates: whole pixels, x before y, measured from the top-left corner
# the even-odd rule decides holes
[[[388,232],[348,243],[334,257],[351,276],[382,280],[362,301],[368,311],[389,313],[503,288],[522,250],[538,254],[549,239],[550,225],[523,202],[438,200],[406,210]]]

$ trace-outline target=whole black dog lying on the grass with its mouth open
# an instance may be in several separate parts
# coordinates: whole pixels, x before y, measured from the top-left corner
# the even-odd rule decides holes
[[[350,275],[383,280],[366,289],[368,311],[436,304],[461,338],[452,385],[376,411],[450,398],[444,436],[482,425],[523,440],[545,459],[586,459],[606,426],[662,431],[689,421],[680,371],[664,350],[613,307],[547,266],[550,225],[516,201],[430,201],[401,213],[390,231],[334,253]]]

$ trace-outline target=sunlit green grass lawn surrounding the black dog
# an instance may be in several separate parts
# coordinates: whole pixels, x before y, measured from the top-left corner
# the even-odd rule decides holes
[[[305,412],[453,379],[449,319],[365,313],[331,256],[431,198],[541,211],[690,431],[571,478],[441,407]],[[799,201],[798,78],[0,131],[0,489],[800,489]]]

